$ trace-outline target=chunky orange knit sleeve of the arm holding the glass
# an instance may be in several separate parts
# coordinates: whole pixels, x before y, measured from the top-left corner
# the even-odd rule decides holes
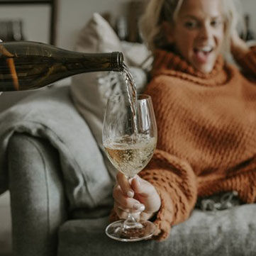
[[[150,164],[139,175],[160,194],[162,204],[154,221],[155,239],[164,240],[171,227],[185,221],[194,208],[196,176],[187,162],[162,150],[155,151]]]

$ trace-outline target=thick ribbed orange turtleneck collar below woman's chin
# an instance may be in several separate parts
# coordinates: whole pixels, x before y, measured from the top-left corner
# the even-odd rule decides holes
[[[204,74],[192,67],[179,55],[165,50],[155,51],[155,60],[152,68],[153,77],[159,74],[167,74],[207,86],[224,84],[230,79],[230,72],[231,70],[228,70],[224,65],[221,55],[218,56],[213,70],[208,74]]]

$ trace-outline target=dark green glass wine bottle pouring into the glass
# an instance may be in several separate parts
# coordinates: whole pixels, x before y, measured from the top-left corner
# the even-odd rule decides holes
[[[30,41],[0,43],[0,91],[38,89],[74,74],[111,70],[123,70],[121,52],[73,52]]]

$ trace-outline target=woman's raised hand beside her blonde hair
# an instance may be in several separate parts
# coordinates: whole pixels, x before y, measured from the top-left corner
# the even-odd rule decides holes
[[[231,35],[230,46],[232,55],[236,60],[239,60],[245,56],[247,52],[250,52],[250,48],[247,46],[245,41],[239,37],[236,30]]]

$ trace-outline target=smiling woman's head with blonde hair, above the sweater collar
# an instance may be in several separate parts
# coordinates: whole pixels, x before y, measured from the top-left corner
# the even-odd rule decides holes
[[[163,1],[162,6],[160,10],[151,1],[140,22],[149,48],[172,47],[202,72],[211,72],[218,54],[230,50],[238,22],[233,1],[176,0]]]

